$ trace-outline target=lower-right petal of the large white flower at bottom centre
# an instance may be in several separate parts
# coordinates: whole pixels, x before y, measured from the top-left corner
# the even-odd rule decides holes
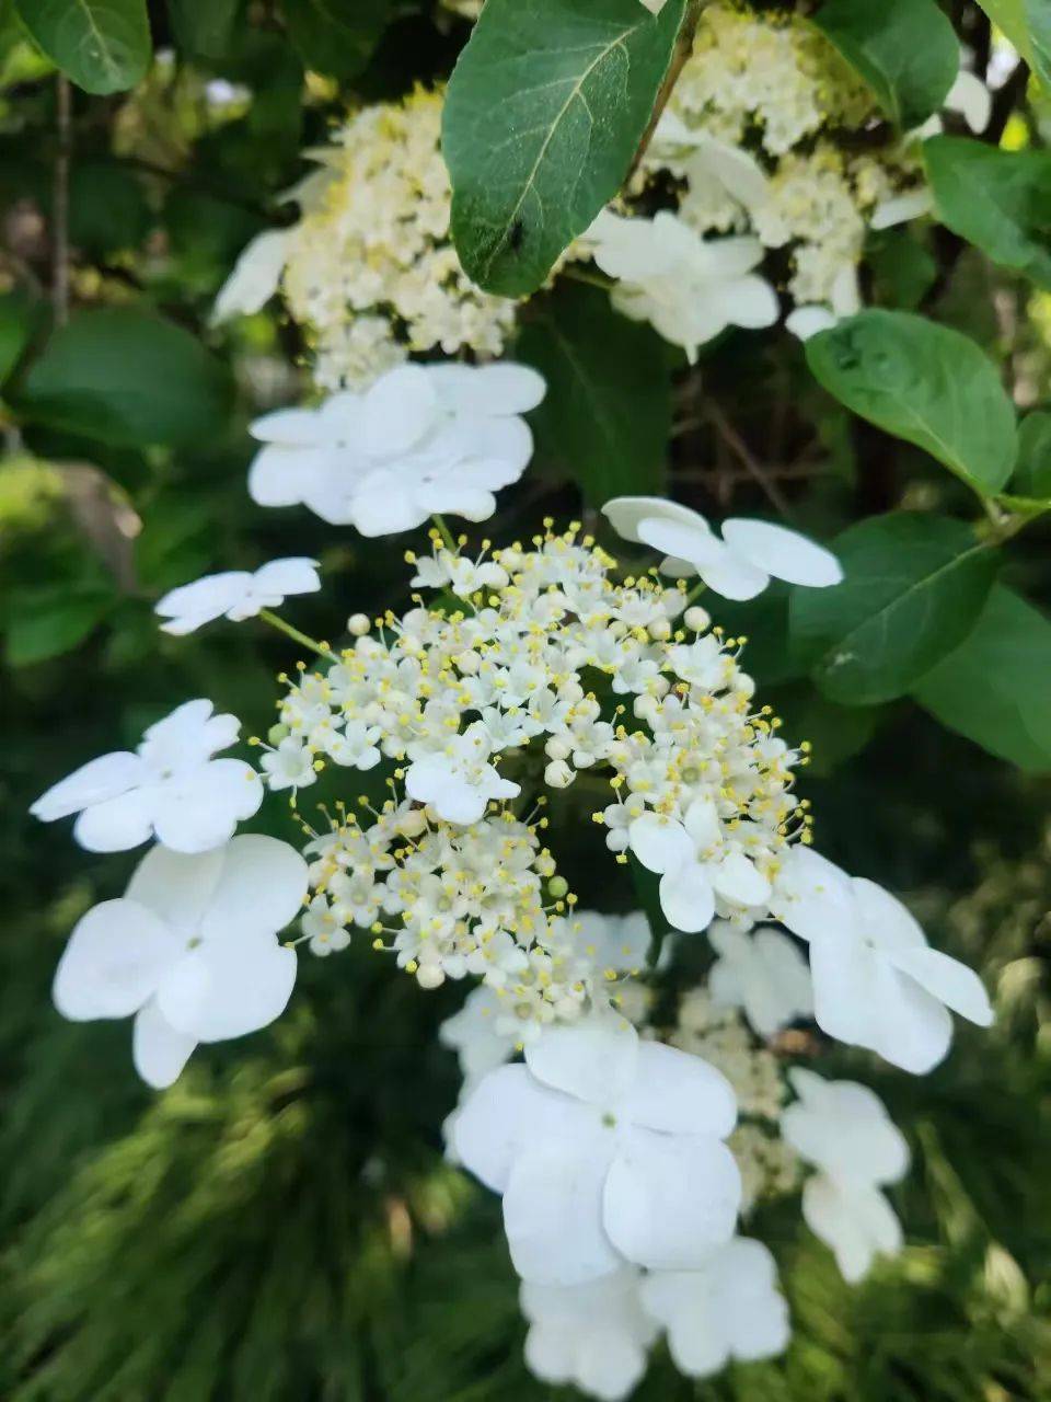
[[[603,1195],[603,1218],[617,1249],[649,1270],[694,1270],[733,1235],[741,1176],[717,1138],[621,1136]]]

